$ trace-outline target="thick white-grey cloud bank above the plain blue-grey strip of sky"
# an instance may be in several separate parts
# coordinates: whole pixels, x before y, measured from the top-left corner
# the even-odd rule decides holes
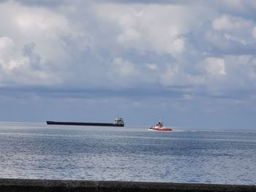
[[[255,11],[239,0],[0,1],[0,88],[248,104]]]

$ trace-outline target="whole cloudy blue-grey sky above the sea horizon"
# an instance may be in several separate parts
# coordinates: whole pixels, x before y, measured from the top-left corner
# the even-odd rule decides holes
[[[0,0],[0,121],[253,129],[255,0]]]

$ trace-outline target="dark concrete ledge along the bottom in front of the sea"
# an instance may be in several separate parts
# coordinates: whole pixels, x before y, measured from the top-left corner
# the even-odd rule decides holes
[[[19,180],[0,179],[0,192],[52,192],[52,191],[88,191],[88,192],[137,192],[137,191],[227,191],[255,192],[256,185],[212,185],[188,183],[146,183],[123,181],[83,181],[83,180]]]

